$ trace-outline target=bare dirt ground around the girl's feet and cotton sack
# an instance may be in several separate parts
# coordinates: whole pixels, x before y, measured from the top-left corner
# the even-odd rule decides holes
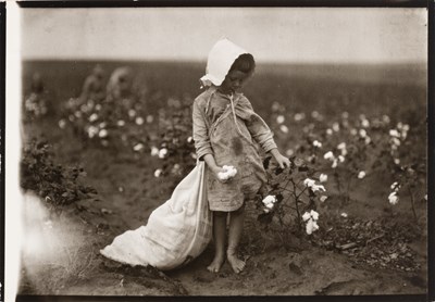
[[[170,197],[171,181],[153,176],[150,156],[135,160],[87,148],[71,134],[45,131],[45,127],[50,126],[33,128],[29,136],[45,133],[62,164],[80,162],[87,172],[87,185],[94,186],[98,194],[65,209],[59,218],[52,217],[48,228],[47,221],[39,222],[47,251],[40,259],[23,251],[21,294],[371,295],[427,291],[425,231],[408,243],[419,265],[409,272],[371,267],[349,254],[316,247],[307,237],[291,234],[284,247],[276,238],[262,234],[251,215],[247,215],[241,243],[247,267],[240,275],[234,274],[227,263],[219,274],[206,269],[213,256],[212,243],[197,260],[172,272],[107,260],[99,250],[125,230],[145,225],[150,213]],[[399,204],[391,213],[389,204],[376,196],[374,184],[368,181],[352,196],[358,202],[341,207],[332,199],[326,210],[338,218],[341,212],[361,219],[412,218],[408,204]],[[368,194],[366,186],[371,185],[374,187]],[[425,206],[418,204],[423,223]],[[48,247],[53,249],[51,253]]]

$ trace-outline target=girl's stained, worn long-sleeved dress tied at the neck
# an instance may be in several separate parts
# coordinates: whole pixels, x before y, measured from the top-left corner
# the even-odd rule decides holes
[[[212,154],[217,165],[237,168],[236,176],[225,184],[213,173],[208,174],[210,210],[236,211],[245,200],[253,199],[266,181],[258,146],[265,152],[276,148],[272,131],[245,96],[226,96],[215,87],[195,99],[192,119],[198,159]]]

